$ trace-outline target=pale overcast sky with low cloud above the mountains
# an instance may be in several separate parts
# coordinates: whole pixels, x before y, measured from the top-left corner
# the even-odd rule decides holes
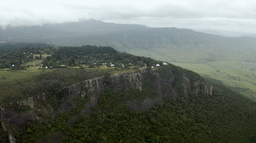
[[[0,0],[0,25],[97,19],[256,33],[255,0]]]

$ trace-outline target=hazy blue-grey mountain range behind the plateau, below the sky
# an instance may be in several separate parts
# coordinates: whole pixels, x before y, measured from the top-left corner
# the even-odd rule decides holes
[[[0,39],[2,42],[45,42],[65,46],[108,45],[126,52],[156,48],[254,48],[256,44],[256,40],[249,37],[223,37],[175,27],[154,28],[98,20],[7,27],[0,31]]]

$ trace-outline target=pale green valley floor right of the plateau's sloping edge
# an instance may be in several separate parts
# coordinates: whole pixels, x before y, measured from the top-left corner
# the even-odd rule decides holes
[[[222,81],[233,90],[239,91],[241,94],[256,101],[255,71],[247,71],[248,65],[243,65],[237,61],[215,61],[205,63],[172,62],[172,64],[195,71],[204,77]],[[228,68],[230,65],[236,65],[239,68]]]

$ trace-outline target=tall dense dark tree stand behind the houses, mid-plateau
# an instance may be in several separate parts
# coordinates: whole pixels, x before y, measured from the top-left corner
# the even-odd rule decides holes
[[[44,66],[79,66],[79,65],[111,65],[129,66],[136,65],[144,67],[152,65],[156,61],[150,58],[135,56],[118,52],[112,47],[81,46],[81,47],[60,47],[51,57],[47,57]]]

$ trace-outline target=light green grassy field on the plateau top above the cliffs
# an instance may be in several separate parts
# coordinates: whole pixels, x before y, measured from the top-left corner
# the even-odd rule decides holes
[[[95,68],[84,65],[83,69],[80,69],[80,67],[40,69],[38,65],[41,62],[41,60],[33,60],[24,63],[23,66],[30,65],[26,70],[0,69],[0,103],[5,99],[17,100],[22,98],[25,95],[22,95],[20,91],[24,91],[24,88],[33,90],[34,85],[44,80],[44,78],[62,79],[69,84],[73,84],[102,76],[104,73],[116,74],[136,71],[133,68],[122,70],[115,69],[115,67],[106,67],[105,65],[95,66]]]

